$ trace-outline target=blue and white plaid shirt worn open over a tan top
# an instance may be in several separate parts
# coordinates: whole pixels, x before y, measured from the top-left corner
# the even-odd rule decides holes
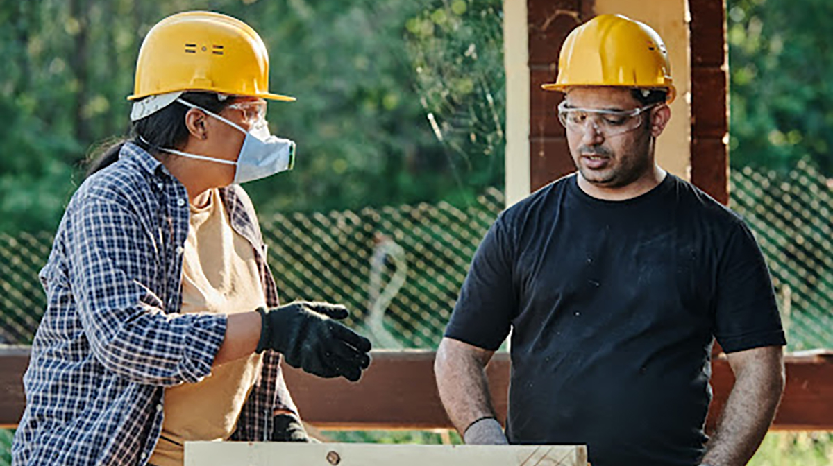
[[[240,186],[221,193],[275,306],[252,202]],[[210,374],[226,331],[225,315],[178,314],[188,218],[185,187],[129,142],[72,196],[40,274],[47,310],[23,377],[13,464],[147,464],[164,388]],[[280,359],[265,353],[232,440],[271,439],[273,410],[297,412]]]

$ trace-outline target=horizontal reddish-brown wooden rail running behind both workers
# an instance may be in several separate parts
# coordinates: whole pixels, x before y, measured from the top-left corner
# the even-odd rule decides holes
[[[14,427],[23,411],[22,375],[27,347],[0,346],[0,426]],[[287,385],[304,419],[323,429],[448,429],[434,383],[434,353],[428,350],[374,351],[371,368],[358,384],[318,379],[286,368]],[[729,364],[715,359],[714,400],[708,427],[716,424],[734,383]],[[506,415],[508,354],[496,354],[487,369],[492,399]],[[772,429],[833,430],[833,351],[786,356],[787,384]]]

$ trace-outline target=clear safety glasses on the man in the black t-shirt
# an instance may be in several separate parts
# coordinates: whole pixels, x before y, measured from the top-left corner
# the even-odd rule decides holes
[[[641,114],[655,107],[651,104],[633,110],[600,110],[595,108],[572,108],[566,101],[558,105],[558,121],[567,131],[584,132],[590,122],[601,136],[610,137],[633,131],[642,124]]]

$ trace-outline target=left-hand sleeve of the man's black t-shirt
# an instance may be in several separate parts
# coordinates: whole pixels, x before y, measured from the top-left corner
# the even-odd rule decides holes
[[[471,261],[446,337],[490,350],[498,349],[506,340],[517,306],[512,280],[513,243],[504,217],[498,217]]]

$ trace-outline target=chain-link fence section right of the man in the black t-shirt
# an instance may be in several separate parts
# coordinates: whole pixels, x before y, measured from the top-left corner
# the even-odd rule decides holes
[[[786,175],[731,172],[731,207],[755,231],[789,349],[833,348],[833,185],[809,161]]]

